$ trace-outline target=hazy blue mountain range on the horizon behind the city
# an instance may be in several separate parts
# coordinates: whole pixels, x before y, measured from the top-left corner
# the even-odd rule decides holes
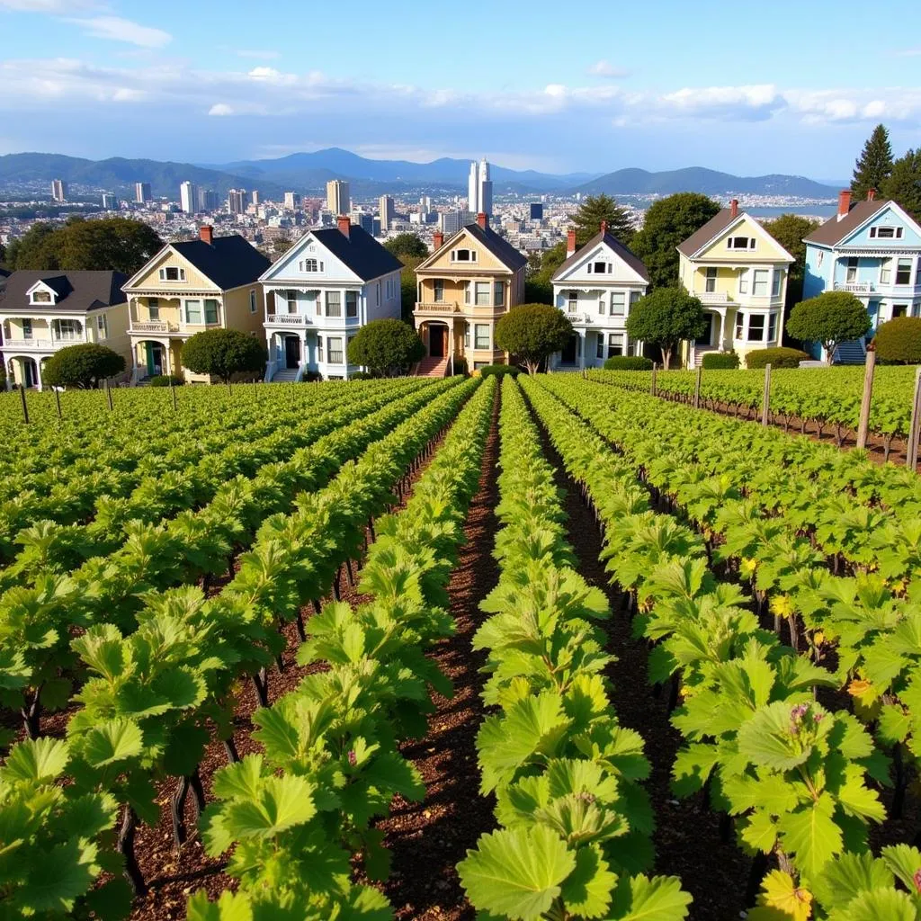
[[[348,180],[357,198],[384,192],[465,192],[470,160],[442,157],[431,163],[409,160],[372,160],[340,147],[313,153],[291,154],[266,160],[202,164],[160,162],[149,159],[111,157],[88,160],[61,154],[7,154],[0,157],[0,192],[34,190],[47,193],[52,179],[63,179],[80,190],[118,192],[132,197],[134,182],[146,181],[155,196],[179,197],[182,181],[226,195],[228,189],[258,189],[266,198],[282,192],[321,193],[331,179]],[[672,192],[729,192],[788,195],[802,198],[833,198],[834,186],[802,176],[740,177],[714,169],[690,167],[666,172],[618,169],[616,172],[555,175],[533,169],[507,169],[491,165],[495,193],[519,194],[582,192],[612,195],[668,195]]]

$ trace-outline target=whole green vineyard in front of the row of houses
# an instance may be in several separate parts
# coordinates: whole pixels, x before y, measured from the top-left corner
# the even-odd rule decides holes
[[[921,481],[703,380],[4,395],[0,921],[921,921]]]

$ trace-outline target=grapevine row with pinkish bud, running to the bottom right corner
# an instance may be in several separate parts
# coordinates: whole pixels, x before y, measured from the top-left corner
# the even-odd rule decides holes
[[[857,921],[888,916],[867,914],[868,906],[913,905],[914,888],[870,892],[886,885],[883,875],[868,883],[856,873],[870,860],[868,822],[884,818],[868,780],[887,783],[887,764],[856,717],[817,702],[817,688],[837,686],[834,676],[761,628],[739,587],[714,577],[705,542],[650,509],[630,461],[543,384],[525,387],[605,526],[608,570],[638,612],[636,634],[656,644],[650,681],[680,676],[672,723],[686,743],[673,770],[676,792],[705,791],[713,808],[736,817],[748,853],[779,864],[749,918],[836,912]],[[899,853],[921,870],[921,854]]]

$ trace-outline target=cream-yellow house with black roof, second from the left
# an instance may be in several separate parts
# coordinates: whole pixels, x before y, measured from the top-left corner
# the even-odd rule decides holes
[[[169,243],[123,287],[128,297],[132,380],[175,374],[190,383],[207,375],[182,366],[182,345],[196,332],[240,330],[262,335],[259,276],[269,260],[247,239],[216,237],[201,228],[199,239]]]

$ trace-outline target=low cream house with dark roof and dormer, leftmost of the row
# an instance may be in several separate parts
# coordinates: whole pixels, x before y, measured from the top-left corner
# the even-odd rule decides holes
[[[41,390],[41,366],[59,349],[98,343],[130,367],[128,305],[121,272],[24,270],[0,286],[6,379]]]

